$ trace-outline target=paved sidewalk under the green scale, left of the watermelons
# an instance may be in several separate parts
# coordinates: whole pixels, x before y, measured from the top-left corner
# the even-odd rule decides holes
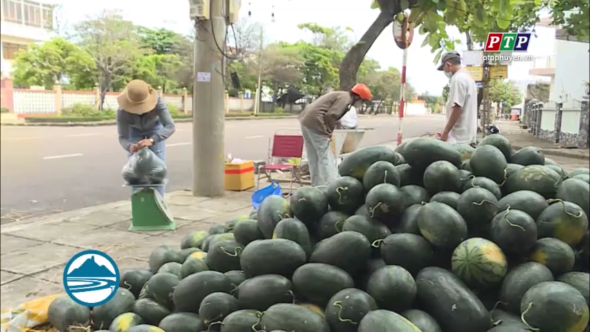
[[[166,195],[175,231],[131,232],[131,202],[120,201],[2,225],[0,228],[1,310],[30,299],[63,293],[62,271],[77,252],[107,252],[120,270],[146,268],[155,246],[180,247],[184,235],[208,230],[251,211],[251,191],[215,199],[189,191]]]

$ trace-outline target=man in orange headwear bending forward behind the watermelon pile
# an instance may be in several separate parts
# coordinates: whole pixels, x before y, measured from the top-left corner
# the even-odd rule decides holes
[[[305,142],[312,185],[327,185],[338,177],[336,146],[332,133],[351,106],[361,107],[372,98],[365,84],[356,84],[350,91],[333,91],[314,100],[299,114]]]

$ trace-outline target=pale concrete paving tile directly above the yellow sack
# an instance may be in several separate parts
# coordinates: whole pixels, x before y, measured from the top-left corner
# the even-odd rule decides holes
[[[64,286],[34,277],[23,277],[0,286],[0,308],[2,311],[15,308],[24,302],[39,297],[55,295],[64,292]]]

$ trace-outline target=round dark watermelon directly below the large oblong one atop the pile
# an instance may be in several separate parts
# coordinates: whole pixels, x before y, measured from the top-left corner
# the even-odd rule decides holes
[[[424,187],[430,194],[438,192],[459,192],[461,174],[459,169],[446,160],[435,161],[424,171]]]

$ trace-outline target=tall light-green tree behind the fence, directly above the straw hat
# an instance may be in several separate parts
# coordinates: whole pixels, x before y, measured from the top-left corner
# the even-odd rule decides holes
[[[140,36],[131,21],[118,12],[105,11],[96,19],[82,21],[75,26],[79,45],[93,57],[100,89],[99,109],[106,91],[123,86],[133,74],[139,57],[151,51],[142,48]]]

